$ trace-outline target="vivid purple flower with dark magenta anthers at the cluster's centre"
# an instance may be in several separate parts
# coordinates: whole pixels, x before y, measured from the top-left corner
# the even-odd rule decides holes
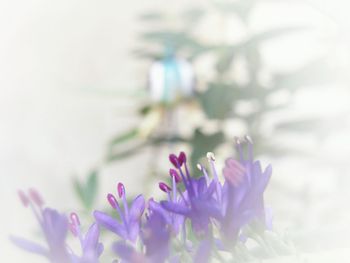
[[[197,234],[207,233],[210,218],[220,218],[220,206],[214,197],[217,184],[212,181],[209,185],[205,177],[194,179],[190,176],[186,155],[181,152],[179,156],[171,154],[170,162],[177,168],[181,175],[185,191],[179,191],[181,200],[161,201],[164,209],[185,216],[191,220],[192,226]],[[182,170],[184,166],[184,170]],[[173,178],[176,178],[173,176]],[[175,188],[176,189],[176,188]]]

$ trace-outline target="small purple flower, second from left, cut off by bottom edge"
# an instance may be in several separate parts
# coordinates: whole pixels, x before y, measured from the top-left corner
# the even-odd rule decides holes
[[[74,236],[79,238],[82,250],[81,256],[72,254],[72,261],[74,263],[98,263],[99,257],[103,252],[103,244],[99,242],[99,226],[96,223],[93,223],[84,236],[80,229],[80,220],[78,215],[72,213],[70,215],[70,219],[70,230]]]

